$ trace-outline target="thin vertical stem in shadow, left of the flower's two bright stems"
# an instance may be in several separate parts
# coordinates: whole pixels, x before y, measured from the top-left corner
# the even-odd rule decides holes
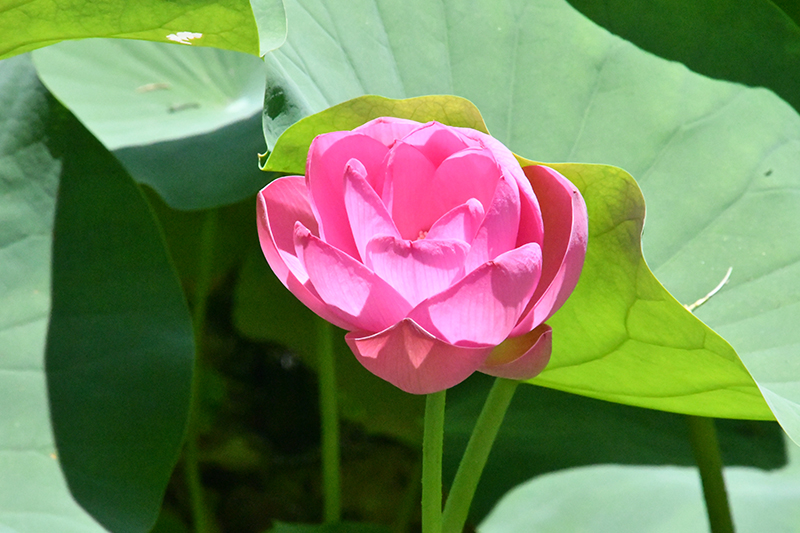
[[[341,456],[339,408],[336,398],[336,366],[333,353],[333,326],[317,320],[319,363],[319,410],[322,418],[322,491],[325,523],[342,518]]]

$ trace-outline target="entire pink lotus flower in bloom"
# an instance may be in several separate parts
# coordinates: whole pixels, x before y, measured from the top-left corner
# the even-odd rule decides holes
[[[370,372],[427,394],[476,370],[541,372],[544,324],[578,281],[586,206],[544,166],[475,130],[379,118],[314,139],[306,175],[258,195],[283,284]]]

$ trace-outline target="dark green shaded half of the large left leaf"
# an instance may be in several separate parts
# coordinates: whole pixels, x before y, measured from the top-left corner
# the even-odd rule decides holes
[[[148,531],[188,417],[191,320],[141,190],[74,117],[57,118],[46,370],[59,458],[101,523]]]

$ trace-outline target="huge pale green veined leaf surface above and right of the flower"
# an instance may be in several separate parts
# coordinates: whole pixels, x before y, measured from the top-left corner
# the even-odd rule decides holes
[[[650,268],[691,303],[733,267],[697,314],[800,439],[800,117],[789,105],[643,52],[564,0],[286,5],[294,30],[267,66],[287,113],[363,94],[456,94],[518,153],[635,176]]]

